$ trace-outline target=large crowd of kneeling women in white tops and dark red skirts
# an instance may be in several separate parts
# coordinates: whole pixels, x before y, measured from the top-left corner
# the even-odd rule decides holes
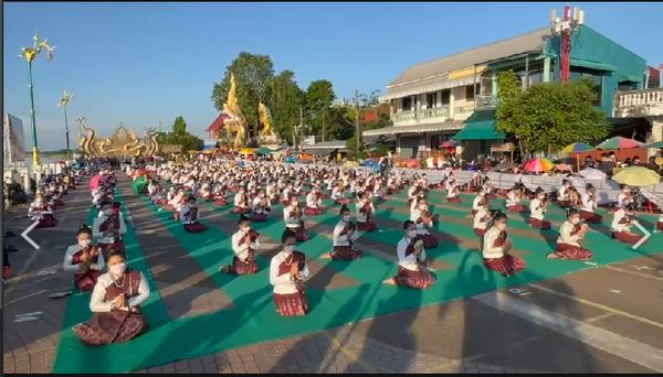
[[[404,208],[409,218],[402,223],[402,238],[394,249],[397,273],[383,283],[427,289],[435,282],[427,249],[439,246],[433,226],[440,222],[439,215],[431,211],[433,198],[429,194],[443,191],[449,205],[466,200],[460,195],[461,187],[453,172],[446,174],[442,182],[432,184],[425,173],[407,176],[398,170],[295,166],[270,161],[240,164],[214,158],[183,162],[151,159],[139,165],[126,164],[125,168],[118,173],[122,176],[116,176],[109,169],[98,172],[99,177],[95,177],[98,184],[91,191],[91,203],[98,209],[98,216],[93,224],[81,226],[75,235],[76,243],[69,247],[63,260],[63,269],[73,273],[76,290],[92,292],[90,309],[93,317],[74,326],[81,341],[91,345],[126,342],[147,330],[140,304],[149,295],[149,286],[145,276],[130,269],[126,262],[124,236],[127,226],[122,203],[114,197],[118,179],[145,175],[148,183],[143,195],[147,195],[155,205],[171,211],[172,217],[191,234],[209,230],[200,222],[198,203],[232,205],[232,213],[238,215],[238,227],[231,237],[233,258],[229,265],[219,268],[220,273],[245,276],[259,272],[256,258],[262,247],[261,235],[252,228],[252,224],[282,222],[281,248],[271,259],[265,284],[273,287],[275,311],[284,316],[306,315],[309,311],[305,292],[311,271],[306,254],[298,249],[309,238],[308,218],[328,211],[337,213],[338,222],[329,229],[333,249],[323,258],[357,260],[364,256],[357,240],[364,233],[380,227],[375,204],[406,191]],[[62,196],[67,190],[75,188],[81,177],[72,174],[66,181],[67,184],[64,180],[51,182],[38,193],[29,216],[39,222],[39,226],[56,226],[53,209],[64,205]],[[556,229],[557,247],[548,258],[592,258],[592,251],[582,246],[582,240],[591,231],[589,224],[602,223],[603,218],[597,214],[596,190],[591,185],[583,187],[582,194],[568,180],[554,193],[540,188],[530,192],[522,184],[499,192],[487,177],[473,180],[469,185],[463,187],[469,188],[464,191],[475,194],[469,216],[473,219],[487,269],[509,277],[526,268],[526,262],[511,252],[514,240],[508,235],[509,216],[529,212],[529,226],[551,229],[551,223],[546,220],[550,205],[567,209],[567,219]],[[505,208],[490,208],[491,201],[501,195],[505,197]],[[324,202],[327,198],[330,201]],[[529,200],[528,206],[524,204],[526,198]],[[621,243],[636,244],[642,238],[632,228],[636,223],[632,204],[630,187],[622,186],[610,222],[612,238]],[[274,211],[276,205],[283,205],[282,213]],[[663,229],[663,215],[657,227]]]

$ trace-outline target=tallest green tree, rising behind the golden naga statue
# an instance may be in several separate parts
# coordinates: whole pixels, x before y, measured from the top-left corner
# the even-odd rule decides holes
[[[215,83],[212,88],[211,98],[219,111],[223,109],[223,104],[228,99],[231,73],[235,76],[238,100],[246,119],[248,128],[252,128],[255,134],[259,129],[260,119],[257,104],[265,101],[267,97],[267,86],[274,77],[274,64],[269,55],[240,53],[225,68],[223,80]]]

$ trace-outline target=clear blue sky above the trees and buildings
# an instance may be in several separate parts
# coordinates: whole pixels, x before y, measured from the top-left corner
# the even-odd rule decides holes
[[[63,89],[72,144],[78,116],[109,136],[122,122],[139,136],[170,128],[178,115],[204,137],[218,111],[212,86],[240,52],[266,54],[275,73],[291,69],[302,88],[329,79],[338,98],[386,86],[411,65],[548,24],[564,3],[229,3],[4,2],[3,109],[23,120],[31,147],[28,68],[19,58],[39,31],[55,45],[33,62],[41,150],[65,148]],[[663,3],[570,3],[585,22],[663,64]]]

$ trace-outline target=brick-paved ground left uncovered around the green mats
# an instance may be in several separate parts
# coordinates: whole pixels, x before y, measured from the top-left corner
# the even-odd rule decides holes
[[[169,315],[222,306],[224,299],[214,295],[199,268],[166,235],[143,227],[144,214],[130,203],[128,192],[123,194],[139,226],[140,244],[171,248],[168,256],[146,255],[155,280],[164,284],[160,293]],[[88,201],[87,190],[70,193],[66,207],[56,213],[61,224],[33,231],[42,246],[39,251],[20,237],[4,239],[19,248],[10,254],[14,277],[6,282],[2,298],[4,373],[52,370],[66,301],[46,294],[71,286],[71,276],[61,269],[62,256],[85,220]],[[24,208],[19,209],[6,214],[6,230],[19,234],[27,226]],[[190,267],[187,273],[168,268],[176,260]],[[200,302],[186,302],[201,294]],[[662,299],[663,255],[641,257],[139,371],[663,373]]]

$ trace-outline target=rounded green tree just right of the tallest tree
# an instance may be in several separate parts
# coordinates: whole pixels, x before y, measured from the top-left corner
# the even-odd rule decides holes
[[[305,103],[305,94],[295,82],[295,73],[283,71],[270,80],[266,91],[274,130],[292,143],[294,126],[299,123],[299,108]]]

